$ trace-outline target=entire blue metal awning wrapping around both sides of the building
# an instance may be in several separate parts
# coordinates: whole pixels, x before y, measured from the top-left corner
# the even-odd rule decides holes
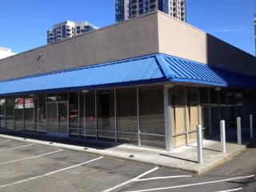
[[[0,95],[94,89],[154,82],[186,82],[254,89],[256,88],[255,80],[255,77],[214,68],[183,58],[153,54],[118,62],[1,81]]]

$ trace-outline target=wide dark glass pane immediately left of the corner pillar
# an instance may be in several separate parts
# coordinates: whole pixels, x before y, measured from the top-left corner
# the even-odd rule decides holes
[[[139,88],[139,115],[142,146],[165,148],[162,86]]]

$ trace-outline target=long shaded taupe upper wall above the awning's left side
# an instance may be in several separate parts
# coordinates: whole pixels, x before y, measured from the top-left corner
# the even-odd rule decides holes
[[[0,79],[158,53],[157,16],[148,14],[2,59]]]

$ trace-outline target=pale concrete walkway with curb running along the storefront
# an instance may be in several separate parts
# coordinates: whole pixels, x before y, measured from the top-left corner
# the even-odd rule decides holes
[[[13,139],[18,141],[38,143],[46,146],[56,146],[70,150],[86,151],[93,154],[102,154],[115,158],[129,159],[131,161],[146,162],[158,166],[170,167],[178,170],[185,170],[193,174],[203,174],[214,166],[218,166],[223,162],[229,161],[234,158],[235,155],[246,149],[246,145],[237,145],[234,143],[226,143],[226,154],[223,154],[221,150],[221,144],[218,141],[203,140],[203,163],[198,164],[198,154],[196,142],[189,146],[181,146],[172,151],[155,150],[138,146],[108,146],[98,147],[91,143],[70,145],[60,142],[46,141],[46,139],[36,140],[33,138],[20,138],[16,136],[0,134],[0,138]]]

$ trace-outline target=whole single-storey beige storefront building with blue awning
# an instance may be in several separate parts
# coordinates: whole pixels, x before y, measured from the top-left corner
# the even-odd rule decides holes
[[[237,117],[242,130],[255,120],[255,63],[155,11],[2,59],[0,125],[171,150],[194,142],[198,124],[218,137],[224,119],[228,140]]]

